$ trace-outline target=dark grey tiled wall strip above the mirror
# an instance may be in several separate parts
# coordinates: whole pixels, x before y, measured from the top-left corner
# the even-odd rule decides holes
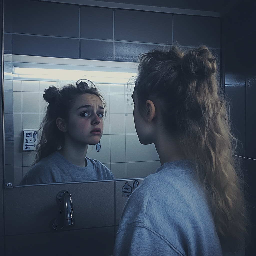
[[[29,0],[6,1],[5,13],[6,53],[136,61],[176,41],[220,48],[220,19],[213,17]]]

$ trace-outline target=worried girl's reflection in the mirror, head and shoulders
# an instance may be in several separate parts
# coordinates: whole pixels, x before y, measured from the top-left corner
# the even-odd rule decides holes
[[[35,164],[20,185],[114,179],[105,165],[86,157],[103,132],[106,108],[96,86],[88,80],[50,86],[43,97],[48,106]]]

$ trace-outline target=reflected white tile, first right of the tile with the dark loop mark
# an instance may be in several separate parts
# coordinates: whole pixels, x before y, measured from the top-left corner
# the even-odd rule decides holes
[[[125,160],[125,134],[110,135],[111,163],[123,163]]]

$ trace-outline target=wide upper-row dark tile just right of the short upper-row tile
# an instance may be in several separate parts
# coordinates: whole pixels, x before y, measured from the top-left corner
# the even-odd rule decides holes
[[[115,9],[115,40],[172,43],[172,14]]]

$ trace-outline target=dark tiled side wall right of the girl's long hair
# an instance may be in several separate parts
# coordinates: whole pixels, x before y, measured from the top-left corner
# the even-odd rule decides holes
[[[256,255],[256,2],[241,1],[222,20],[225,93],[231,103],[232,128],[245,160],[248,201],[253,223],[247,255]]]

